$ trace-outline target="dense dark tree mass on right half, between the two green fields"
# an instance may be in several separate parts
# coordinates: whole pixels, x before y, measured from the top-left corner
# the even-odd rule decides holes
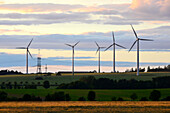
[[[170,88],[170,77],[156,77],[152,80],[112,80],[109,78],[96,79],[94,76],[81,77],[78,81],[62,83],[58,89],[154,89]]]

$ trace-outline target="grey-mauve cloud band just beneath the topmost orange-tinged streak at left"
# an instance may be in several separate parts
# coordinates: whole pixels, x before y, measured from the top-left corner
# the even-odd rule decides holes
[[[107,12],[107,11],[106,11]],[[1,20],[0,25],[39,25],[39,24],[55,24],[55,23],[86,23],[86,24],[112,24],[112,25],[129,25],[139,24],[117,16],[93,18],[90,14],[103,14],[105,12],[91,12],[91,13],[48,13],[48,14],[20,14],[9,13],[0,14],[0,18],[8,18],[13,20]],[[107,12],[110,13],[110,12]],[[107,15],[107,14],[105,14]]]

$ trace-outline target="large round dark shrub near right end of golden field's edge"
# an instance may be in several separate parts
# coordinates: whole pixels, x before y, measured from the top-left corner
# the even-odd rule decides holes
[[[161,97],[161,92],[158,90],[153,90],[150,93],[149,99],[152,101],[158,101],[160,99],[160,97]]]

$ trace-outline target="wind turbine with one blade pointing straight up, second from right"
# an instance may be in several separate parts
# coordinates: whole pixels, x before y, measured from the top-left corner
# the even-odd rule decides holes
[[[111,44],[108,48],[106,48],[105,51],[107,51],[109,48],[111,48],[113,46],[113,72],[115,73],[116,72],[116,70],[115,70],[115,46],[118,46],[118,47],[121,47],[124,49],[126,49],[126,48],[115,42],[114,32],[112,32],[112,36],[113,36],[113,44]]]

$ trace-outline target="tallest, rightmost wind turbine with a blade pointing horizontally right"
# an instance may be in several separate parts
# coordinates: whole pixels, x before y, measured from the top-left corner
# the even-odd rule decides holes
[[[139,75],[139,40],[141,41],[153,41],[150,39],[143,39],[143,38],[138,38],[138,35],[136,33],[136,31],[134,30],[133,26],[131,25],[132,30],[135,34],[136,37],[136,41],[133,43],[133,45],[131,46],[131,48],[129,49],[129,52],[131,51],[131,49],[133,48],[133,46],[137,43],[137,76]]]

